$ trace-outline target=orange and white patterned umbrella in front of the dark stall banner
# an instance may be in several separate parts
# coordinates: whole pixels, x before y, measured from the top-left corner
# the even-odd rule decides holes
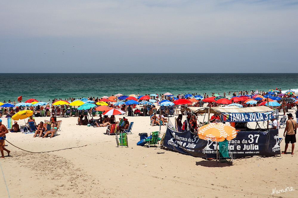
[[[198,129],[198,136],[204,140],[210,139],[213,142],[223,142],[225,139],[234,139],[237,136],[237,131],[229,125],[214,122],[201,126]]]

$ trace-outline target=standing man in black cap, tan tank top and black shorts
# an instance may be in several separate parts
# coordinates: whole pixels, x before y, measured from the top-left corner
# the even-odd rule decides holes
[[[283,136],[285,137],[285,151],[282,152],[282,154],[287,154],[287,149],[289,143],[292,144],[292,155],[294,155],[294,143],[296,142],[296,134],[295,131],[297,130],[297,122],[293,120],[293,115],[287,114],[288,115],[288,120],[287,120],[287,125],[285,127],[285,132]]]

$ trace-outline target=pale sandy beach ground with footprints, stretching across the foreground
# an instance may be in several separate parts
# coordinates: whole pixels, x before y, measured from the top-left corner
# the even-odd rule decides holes
[[[170,117],[172,123],[175,117]],[[77,117],[58,117],[61,131],[52,139],[9,132],[8,141],[32,152],[83,146],[28,153],[6,142],[11,156],[0,163],[10,197],[297,197],[297,152],[235,159],[233,166],[217,164],[166,149],[137,146],[138,133],[159,131],[159,126],[149,126],[149,117],[127,118],[134,122],[128,148],[117,147],[115,136],[104,134],[106,127],[76,125]],[[35,120],[45,119],[49,117]],[[2,120],[6,125],[6,119]],[[203,116],[199,120],[203,121]],[[24,120],[18,123],[22,125]],[[165,131],[166,126],[162,126],[160,137]],[[283,131],[280,129],[280,137]],[[284,146],[282,141],[282,151]],[[0,186],[1,197],[8,197],[3,176]],[[287,187],[286,192],[272,194],[274,189]],[[289,191],[291,187],[293,191]]]

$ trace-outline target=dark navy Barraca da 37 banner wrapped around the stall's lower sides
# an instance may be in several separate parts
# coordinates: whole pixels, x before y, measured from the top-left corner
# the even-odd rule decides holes
[[[190,131],[181,133],[167,128],[163,146],[195,157],[216,158],[216,143],[200,139]],[[280,155],[278,130],[238,131],[236,138],[230,141],[230,150],[233,158]]]

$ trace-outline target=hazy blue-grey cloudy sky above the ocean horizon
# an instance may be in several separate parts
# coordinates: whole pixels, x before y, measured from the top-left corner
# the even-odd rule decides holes
[[[3,73],[298,73],[298,0],[0,0]]]

